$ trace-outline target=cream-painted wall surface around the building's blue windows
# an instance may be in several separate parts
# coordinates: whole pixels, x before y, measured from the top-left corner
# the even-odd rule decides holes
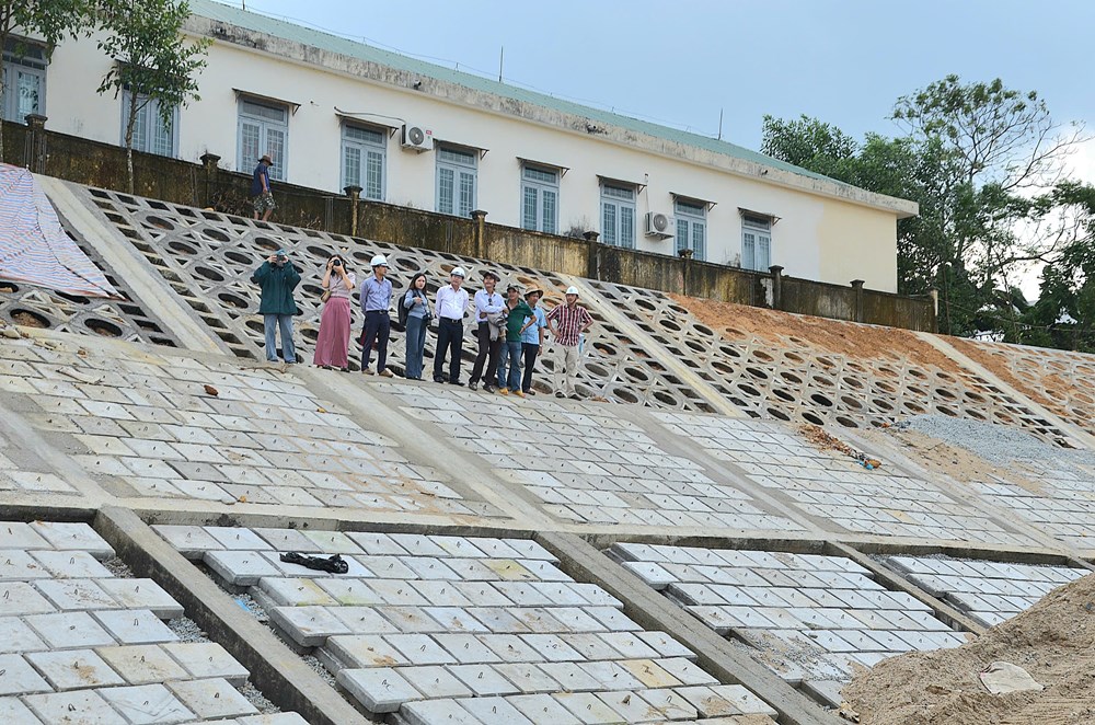
[[[314,60],[314,59],[313,59]],[[319,59],[322,60],[322,59]],[[54,130],[118,143],[120,101],[97,95],[111,60],[95,38],[62,44],[54,54],[47,79],[47,113]],[[636,246],[675,254],[673,239],[645,237],[647,211],[672,214],[672,193],[714,202],[707,212],[706,260],[740,262],[739,208],[774,215],[772,264],[785,274],[846,284],[866,280],[868,288],[897,288],[897,212],[841,202],[746,177],[668,153],[627,146],[615,138],[487,112],[462,100],[445,101],[407,88],[364,80],[315,65],[287,60],[216,41],[199,78],[199,101],[181,112],[178,157],[196,161],[220,156],[221,166],[250,172],[256,160],[238,160],[238,93],[299,104],[289,117],[288,152],[276,162],[287,180],[301,186],[342,191],[341,129],[335,108],[382,114],[379,123],[400,120],[433,128],[437,139],[485,149],[479,161],[475,206],[497,225],[520,225],[520,158],[568,168],[560,182],[558,230],[600,231],[598,174],[644,184],[636,197]],[[763,173],[763,172],[761,172]],[[405,151],[400,135],[387,146],[387,194],[392,204],[436,208],[436,154]],[[276,191],[276,187],[275,187]]]

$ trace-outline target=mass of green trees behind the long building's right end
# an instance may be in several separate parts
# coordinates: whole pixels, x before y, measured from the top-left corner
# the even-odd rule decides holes
[[[855,143],[817,119],[765,116],[763,150],[917,202],[920,215],[898,221],[898,291],[937,289],[942,332],[1028,340],[1035,312],[1017,294],[1016,275],[1030,263],[1074,271],[1086,258],[1075,250],[1062,254],[1082,240],[1090,244],[1083,220],[1095,215],[1084,206],[1091,187],[1061,181],[1079,131],[1054,124],[1034,91],[1000,79],[963,83],[957,76],[898,99],[891,117],[903,136],[868,135]],[[1035,309],[1048,314],[1045,304]]]

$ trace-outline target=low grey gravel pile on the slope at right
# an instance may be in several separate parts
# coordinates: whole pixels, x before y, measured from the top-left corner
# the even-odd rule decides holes
[[[895,424],[897,429],[917,430],[952,446],[965,448],[990,463],[1006,465],[1033,459],[1095,465],[1095,453],[1050,446],[1019,428],[993,425],[947,415],[918,415]]]

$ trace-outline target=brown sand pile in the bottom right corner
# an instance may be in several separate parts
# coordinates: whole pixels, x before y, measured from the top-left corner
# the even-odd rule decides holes
[[[995,660],[1023,667],[1045,690],[990,694],[978,674]],[[843,694],[864,725],[1095,723],[1095,576],[957,649],[884,660]]]

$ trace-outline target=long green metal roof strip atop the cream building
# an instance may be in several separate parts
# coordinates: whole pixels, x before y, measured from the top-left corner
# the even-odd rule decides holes
[[[216,2],[215,0],[188,0],[188,2],[191,12],[195,15],[200,15],[203,18],[208,18],[223,23],[230,23],[256,33],[273,35],[275,37],[292,41],[306,46],[312,46],[321,50],[327,50],[330,53],[336,53],[350,58],[357,58],[366,62],[374,62],[388,66],[389,68],[417,73],[419,76],[433,78],[446,83],[463,85],[464,88],[473,91],[491,93],[493,95],[512,99],[523,103],[532,103],[552,111],[581,116],[593,122],[618,126],[620,128],[625,128],[639,134],[646,134],[647,136],[665,139],[667,141],[692,146],[734,159],[759,163],[772,169],[780,169],[782,171],[787,171],[811,179],[823,180],[841,186],[851,186],[850,184],[837,181],[835,179],[823,176],[812,171],[802,169],[800,166],[764,156],[763,153],[759,153],[757,151],[750,151],[749,149],[735,143],[729,143],[727,141],[719,141],[699,134],[691,134],[689,131],[678,130],[676,128],[661,126],[647,120],[632,118],[631,116],[624,116],[618,113],[585,106],[580,103],[573,103],[563,99],[556,99],[548,95],[546,93],[538,93],[537,91],[530,91],[516,85],[508,85],[506,83],[494,81],[488,78],[482,78],[473,73],[464,73],[459,70],[453,70],[451,68],[446,68],[443,66],[438,66],[436,64],[392,53],[391,50],[376,48],[371,45],[366,45],[365,43],[358,43],[357,41],[338,37],[337,35],[324,33],[323,31],[304,27],[302,25],[295,25],[275,18],[267,18],[266,15],[261,15],[258,13],[247,12],[232,5]]]

